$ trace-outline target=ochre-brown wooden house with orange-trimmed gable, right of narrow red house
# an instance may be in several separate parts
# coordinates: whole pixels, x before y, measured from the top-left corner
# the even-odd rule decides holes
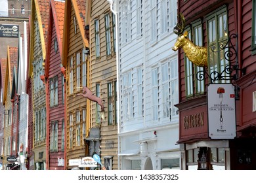
[[[88,154],[89,100],[77,96],[89,82],[89,41],[85,37],[85,1],[65,1],[62,65],[66,83],[66,166]]]

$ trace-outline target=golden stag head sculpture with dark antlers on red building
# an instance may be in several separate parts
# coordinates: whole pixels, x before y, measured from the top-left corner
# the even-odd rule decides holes
[[[186,57],[199,67],[207,67],[207,49],[202,46],[197,46],[188,39],[188,32],[184,31],[185,18],[180,13],[178,20],[181,18],[181,24],[176,24],[173,29],[173,33],[178,35],[177,41],[173,46],[173,51],[177,51],[179,48],[184,50]]]

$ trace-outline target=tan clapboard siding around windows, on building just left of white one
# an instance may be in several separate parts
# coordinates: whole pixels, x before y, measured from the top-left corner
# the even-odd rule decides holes
[[[113,39],[112,39],[112,54],[106,56],[106,33],[105,33],[105,20],[104,16],[110,14],[110,22],[112,22],[112,14],[110,5],[107,1],[92,1],[91,5],[91,90],[96,92],[96,83],[100,84],[100,98],[104,100],[105,119],[102,120],[100,125],[101,137],[101,151],[100,156],[113,156],[112,169],[117,169],[117,125],[108,125],[108,82],[116,80],[116,53],[113,52]],[[99,20],[100,25],[100,58],[95,57],[95,20]],[[112,37],[112,25],[110,25]],[[112,82],[114,87],[114,83]],[[96,126],[95,110],[96,103],[91,102],[91,122],[92,127]],[[114,118],[114,116],[113,116]],[[108,148],[106,141],[113,141],[114,147]],[[103,159],[102,159],[103,160]],[[104,161],[102,161],[104,163]]]

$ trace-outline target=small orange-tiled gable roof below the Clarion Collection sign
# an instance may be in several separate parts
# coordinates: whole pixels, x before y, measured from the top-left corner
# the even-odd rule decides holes
[[[14,80],[14,69],[18,65],[18,48],[7,46],[7,67],[5,72],[5,87],[3,88],[3,105],[5,105],[5,100],[7,99],[8,93],[8,82],[10,84],[10,93],[12,92],[12,82]],[[16,72],[16,71],[15,71]]]

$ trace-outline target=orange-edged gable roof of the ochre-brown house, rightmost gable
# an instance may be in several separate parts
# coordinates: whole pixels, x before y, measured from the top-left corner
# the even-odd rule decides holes
[[[85,37],[85,3],[86,0],[66,0],[65,3],[65,17],[64,17],[64,33],[63,33],[63,47],[62,47],[62,65],[67,63],[68,41],[70,33],[70,14],[72,8],[75,11],[75,18],[80,29],[81,38],[83,39],[83,46],[89,48],[89,41]]]

